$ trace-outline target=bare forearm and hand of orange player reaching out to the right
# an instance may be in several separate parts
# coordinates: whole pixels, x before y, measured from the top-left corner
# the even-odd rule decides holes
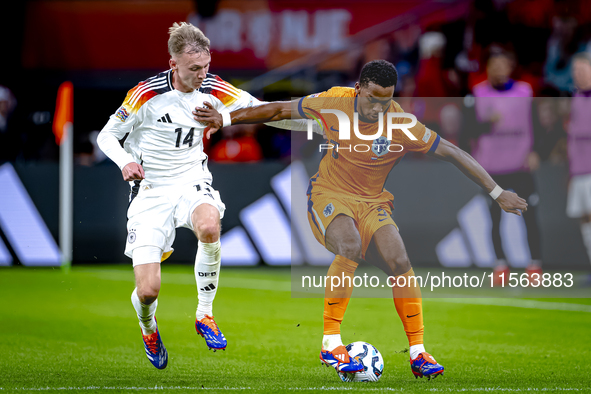
[[[474,183],[486,190],[487,193],[491,193],[497,187],[491,176],[472,156],[443,138],[441,138],[435,152],[430,155],[452,163]],[[503,190],[495,200],[505,212],[521,216],[519,210],[527,211],[527,202],[510,191]]]

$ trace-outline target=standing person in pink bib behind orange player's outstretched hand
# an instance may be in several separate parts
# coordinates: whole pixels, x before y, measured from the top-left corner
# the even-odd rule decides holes
[[[478,136],[472,155],[491,174],[495,182],[507,185],[529,204],[523,215],[531,252],[528,273],[540,273],[541,250],[537,223],[539,201],[531,174],[539,167],[539,156],[533,148],[531,86],[510,78],[514,67],[513,54],[499,47],[490,49],[487,80],[474,86],[476,115],[490,129]],[[497,255],[495,278],[508,277],[509,269],[501,244],[501,210],[492,204],[492,239]],[[505,283],[508,279],[505,277]]]

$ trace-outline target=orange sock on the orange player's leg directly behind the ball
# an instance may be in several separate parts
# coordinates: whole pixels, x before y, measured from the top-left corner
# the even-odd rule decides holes
[[[353,293],[353,274],[357,263],[343,256],[336,256],[328,269],[324,290],[324,335],[340,334],[349,299]],[[331,277],[340,279],[340,286],[331,290]],[[336,279],[334,284],[336,285]]]

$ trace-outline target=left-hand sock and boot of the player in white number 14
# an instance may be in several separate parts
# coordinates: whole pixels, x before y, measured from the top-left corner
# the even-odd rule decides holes
[[[158,369],[166,368],[168,365],[168,352],[162,343],[162,338],[160,338],[158,324],[154,316],[158,307],[158,300],[151,304],[142,303],[138,297],[137,288],[135,288],[131,294],[131,303],[137,312],[148,360]]]

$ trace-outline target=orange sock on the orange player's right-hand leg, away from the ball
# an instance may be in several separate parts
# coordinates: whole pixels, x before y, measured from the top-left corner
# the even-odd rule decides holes
[[[406,274],[396,277],[396,283],[401,286],[392,287],[396,312],[398,312],[398,316],[402,320],[410,346],[422,344],[424,333],[421,288],[417,286],[414,279],[409,281],[409,277],[414,275],[415,273],[411,268]],[[405,277],[406,280],[401,277]]]

